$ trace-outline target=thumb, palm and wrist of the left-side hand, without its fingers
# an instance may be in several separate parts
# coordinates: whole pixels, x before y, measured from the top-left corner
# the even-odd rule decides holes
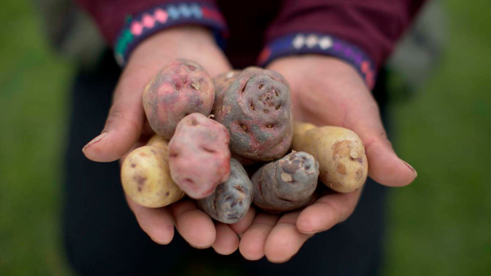
[[[177,57],[197,61],[212,77],[230,69],[206,28],[176,26],[146,38],[132,52],[121,75],[103,132],[82,149],[88,159],[110,162],[132,148],[145,120],[141,98],[145,85],[164,64]]]

